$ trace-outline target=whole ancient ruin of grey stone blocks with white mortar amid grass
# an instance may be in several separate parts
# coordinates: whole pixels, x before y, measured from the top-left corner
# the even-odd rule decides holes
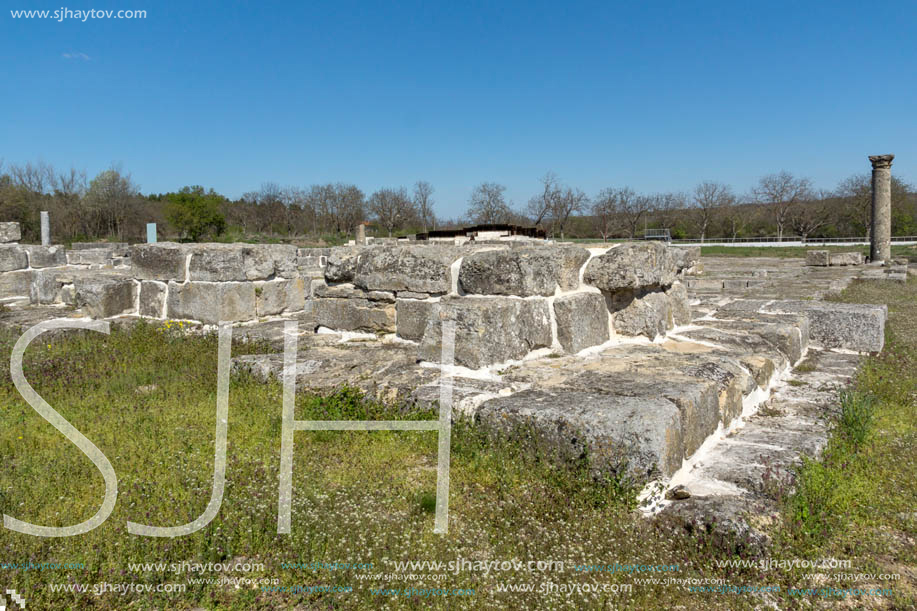
[[[819,300],[861,266],[701,262],[661,242],[65,250],[19,245],[13,225],[0,224],[6,326],[226,321],[282,348],[296,320],[299,388],[433,406],[454,321],[457,414],[559,461],[588,457],[596,475],[643,486],[647,514],[752,539],[745,514],[777,506],[763,474],[821,451],[837,386],[884,342],[885,306]],[[803,360],[813,366],[795,372]],[[233,367],[280,379],[283,356]]]

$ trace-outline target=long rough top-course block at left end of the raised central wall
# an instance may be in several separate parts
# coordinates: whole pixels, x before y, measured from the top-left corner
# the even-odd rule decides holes
[[[462,251],[449,246],[383,246],[363,249],[353,283],[368,291],[415,291],[440,295],[451,288],[450,266]],[[331,263],[329,262],[329,266]],[[328,268],[325,271],[328,277]]]

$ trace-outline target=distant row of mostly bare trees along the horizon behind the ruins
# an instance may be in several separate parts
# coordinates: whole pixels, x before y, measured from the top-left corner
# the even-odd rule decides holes
[[[264,183],[230,199],[198,185],[143,195],[130,173],[112,166],[89,179],[84,170],[57,171],[44,162],[0,163],[0,221],[18,221],[25,241],[39,238],[39,212],[52,215],[55,242],[140,241],[155,222],[163,239],[297,239],[340,241],[366,222],[370,235],[394,236],[468,224],[536,225],[551,237],[637,238],[665,230],[674,238],[738,239],[763,236],[867,237],[871,178],[856,174],[833,190],[790,172],[762,176],[744,194],[712,180],[689,192],[639,193],[612,186],[590,196],[548,172],[522,205],[506,187],[474,187],[457,218],[438,218],[435,189],[385,187],[368,196],[353,184],[309,187]],[[892,177],[892,231],[917,234],[917,193]]]

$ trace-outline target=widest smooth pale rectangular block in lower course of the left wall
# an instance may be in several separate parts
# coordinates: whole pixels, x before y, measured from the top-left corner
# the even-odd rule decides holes
[[[255,285],[252,282],[169,283],[169,318],[203,323],[252,320]]]

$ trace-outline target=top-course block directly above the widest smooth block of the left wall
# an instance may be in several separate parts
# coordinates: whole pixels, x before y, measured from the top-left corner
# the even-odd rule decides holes
[[[293,253],[295,256],[295,248]],[[188,268],[191,281],[269,280],[274,276],[271,252],[260,244],[196,244]]]

